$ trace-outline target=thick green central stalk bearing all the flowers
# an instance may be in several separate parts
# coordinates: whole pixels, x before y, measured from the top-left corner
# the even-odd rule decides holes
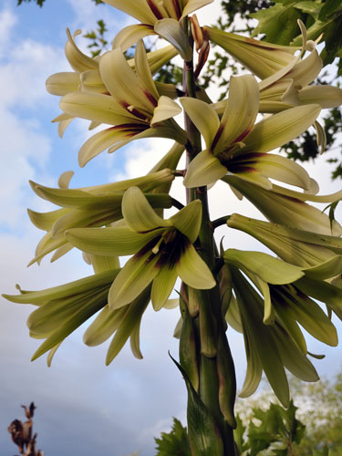
[[[193,47],[193,39],[190,36]],[[194,76],[193,59],[184,61],[183,67],[183,91],[185,97],[196,98],[196,82]],[[201,132],[193,124],[192,119],[184,112],[185,130],[189,143],[186,145],[188,169],[192,160],[202,150]],[[210,221],[207,187],[187,188],[187,202],[200,200],[202,202],[202,224],[198,238],[197,250],[202,259],[211,269],[215,266],[216,246],[213,239],[212,223]],[[188,303],[195,299],[198,303],[198,314],[191,316],[188,309],[183,310],[184,330],[181,332],[181,365],[187,370],[189,368],[188,356],[184,350],[192,350],[196,347],[195,366],[198,374],[192,378],[199,379],[198,394],[203,404],[212,413],[212,417],[218,427],[217,439],[222,440],[222,456],[233,456],[235,446],[233,440],[233,427],[235,420],[233,417],[233,404],[236,393],[235,372],[233,358],[230,352],[225,327],[223,326],[223,315],[221,310],[221,299],[218,285],[211,290],[192,290],[188,288],[188,296],[184,293],[185,287],[181,289],[183,302]],[[192,323],[189,322],[192,319]],[[192,327],[192,338],[194,342],[187,344],[183,339],[189,341],[189,327]],[[192,365],[193,366],[193,365]],[[229,388],[227,389],[227,384]],[[196,385],[197,386],[197,385]],[[195,385],[194,385],[195,387]],[[188,413],[190,404],[188,402]],[[229,410],[228,412],[226,412]],[[225,413],[226,412],[226,413]],[[188,425],[191,420],[188,418]],[[192,430],[189,430],[190,440]],[[208,449],[208,454],[210,451]],[[193,456],[197,453],[193,452]],[[210,454],[213,454],[211,452]],[[216,453],[215,453],[216,454]],[[217,453],[219,454],[219,453]]]

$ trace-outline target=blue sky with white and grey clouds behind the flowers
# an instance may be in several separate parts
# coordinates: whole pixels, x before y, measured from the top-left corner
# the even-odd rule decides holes
[[[65,29],[94,28],[105,19],[114,36],[130,18],[90,0],[47,0],[43,8],[34,4],[16,7],[15,0],[0,2],[0,248],[2,293],[15,293],[19,283],[26,289],[59,285],[91,274],[79,254],[67,254],[57,263],[43,261],[41,266],[26,264],[34,254],[42,233],[29,223],[26,208],[48,211],[30,191],[28,180],[56,186],[63,171],[73,170],[74,186],[103,183],[118,177],[138,176],[159,160],[168,141],[133,143],[115,154],[102,154],[82,170],[77,151],[87,138],[87,125],[74,122],[65,138],[57,136],[50,123],[59,113],[57,98],[45,91],[50,74],[68,70],[63,48]],[[219,1],[202,11],[202,23],[212,23],[219,15]],[[85,47],[80,39],[81,47]],[[322,192],[333,192],[339,182],[331,183],[325,160],[309,165],[312,176],[322,182]],[[181,186],[174,192],[181,193]],[[211,191],[212,217],[239,211],[256,212],[247,202],[237,202],[226,188],[216,185]],[[238,209],[237,209],[238,208]],[[222,212],[223,211],[223,212]],[[220,235],[223,235],[223,231]],[[255,243],[241,234],[229,233],[229,244],[244,249]],[[13,454],[7,425],[21,418],[20,404],[35,401],[38,447],[47,456],[124,456],[140,451],[153,454],[153,436],[168,430],[171,417],[184,420],[186,395],[179,373],[168,350],[177,358],[177,342],[172,338],[178,311],[147,311],[141,328],[144,359],[133,358],[125,347],[119,357],[105,367],[107,347],[88,348],[82,343],[81,328],[60,347],[51,368],[45,357],[30,362],[37,341],[28,337],[26,317],[30,306],[19,306],[1,299],[0,307],[0,448]],[[341,326],[339,326],[339,331]],[[239,386],[244,380],[242,338],[229,334],[236,360]],[[311,341],[310,351],[326,353],[316,363],[325,376],[341,368],[341,349],[326,349]]]

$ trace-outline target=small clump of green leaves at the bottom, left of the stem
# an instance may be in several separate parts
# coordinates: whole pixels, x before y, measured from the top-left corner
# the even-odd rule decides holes
[[[186,428],[176,418],[173,419],[171,431],[161,432],[161,439],[154,440],[158,450],[156,456],[192,456]]]

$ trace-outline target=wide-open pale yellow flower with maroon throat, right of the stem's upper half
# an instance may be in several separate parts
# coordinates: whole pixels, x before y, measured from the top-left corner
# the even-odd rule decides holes
[[[227,173],[271,188],[268,177],[308,190],[306,171],[284,157],[266,154],[294,139],[312,125],[318,105],[280,112],[254,125],[259,109],[259,88],[253,76],[231,78],[229,98],[222,119],[215,109],[196,98],[181,98],[181,104],[201,131],[206,149],[190,163],[184,179],[187,187],[211,184]]]

